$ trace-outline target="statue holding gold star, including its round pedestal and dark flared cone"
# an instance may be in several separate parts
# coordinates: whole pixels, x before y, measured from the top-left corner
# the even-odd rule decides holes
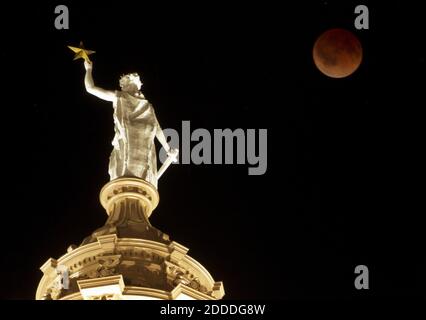
[[[140,91],[142,82],[137,73],[123,75],[121,90],[109,91],[95,86],[92,77],[93,63],[89,55],[95,53],[84,48],[68,46],[74,60],[83,59],[87,92],[112,102],[115,135],[109,159],[110,180],[99,194],[108,220],[83,240],[82,245],[98,241],[100,236],[116,235],[118,238],[147,239],[164,244],[169,237],[149,222],[160,196],[157,182],[161,174],[177,161],[178,150],[172,149],[161,130],[153,106]],[[168,158],[157,171],[155,138],[159,140]]]

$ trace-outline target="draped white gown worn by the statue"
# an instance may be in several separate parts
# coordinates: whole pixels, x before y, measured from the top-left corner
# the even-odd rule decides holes
[[[138,177],[157,187],[154,139],[159,128],[154,108],[144,98],[116,91],[114,149],[109,161],[111,180]]]

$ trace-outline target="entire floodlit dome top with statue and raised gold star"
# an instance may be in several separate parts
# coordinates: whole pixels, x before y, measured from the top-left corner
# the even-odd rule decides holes
[[[221,299],[222,282],[187,255],[188,249],[149,222],[160,197],[158,179],[179,150],[169,146],[145,99],[136,73],[120,79],[120,91],[96,87],[92,78],[94,51],[69,47],[75,59],[84,59],[86,91],[110,101],[115,136],[110,156],[111,181],[101,190],[100,202],[108,219],[79,247],[41,267],[43,278],[37,300]],[[157,171],[155,138],[168,158]]]

